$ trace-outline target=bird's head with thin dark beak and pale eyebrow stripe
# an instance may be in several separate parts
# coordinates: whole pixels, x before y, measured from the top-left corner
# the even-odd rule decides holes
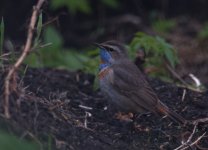
[[[127,57],[124,45],[117,41],[107,41],[96,45],[100,48],[102,64],[111,65],[114,62]]]

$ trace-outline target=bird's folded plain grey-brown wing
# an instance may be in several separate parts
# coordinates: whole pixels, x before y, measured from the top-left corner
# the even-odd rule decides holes
[[[125,95],[148,111],[154,111],[158,98],[144,78],[140,70],[131,62],[119,63],[112,66],[114,82],[112,86],[117,92]]]

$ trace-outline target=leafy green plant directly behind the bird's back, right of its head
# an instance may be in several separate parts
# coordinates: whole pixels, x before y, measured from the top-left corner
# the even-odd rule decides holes
[[[143,49],[147,55],[145,67],[157,68],[157,71],[151,75],[169,80],[169,74],[162,66],[168,62],[174,68],[179,63],[175,49],[163,38],[153,37],[142,32],[137,33],[130,44],[130,57],[132,59],[135,58],[139,49]]]

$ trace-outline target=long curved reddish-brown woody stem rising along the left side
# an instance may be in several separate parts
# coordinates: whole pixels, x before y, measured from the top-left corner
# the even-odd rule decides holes
[[[33,7],[33,13],[30,19],[30,24],[28,28],[28,34],[27,34],[27,40],[25,43],[25,47],[23,49],[23,52],[21,56],[18,58],[16,63],[11,67],[9,70],[4,83],[4,115],[6,118],[10,118],[9,113],[9,95],[10,95],[10,81],[12,76],[15,74],[16,70],[19,68],[19,66],[24,61],[25,57],[28,55],[29,51],[31,50],[32,45],[32,39],[34,34],[34,28],[37,21],[37,16],[40,11],[41,6],[43,5],[45,0],[39,0],[37,5]]]

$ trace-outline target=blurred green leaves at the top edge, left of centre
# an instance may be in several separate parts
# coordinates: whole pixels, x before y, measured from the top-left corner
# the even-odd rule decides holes
[[[91,7],[88,0],[52,0],[52,9],[58,9],[60,7],[67,7],[68,10],[75,14],[76,12],[91,13]]]

